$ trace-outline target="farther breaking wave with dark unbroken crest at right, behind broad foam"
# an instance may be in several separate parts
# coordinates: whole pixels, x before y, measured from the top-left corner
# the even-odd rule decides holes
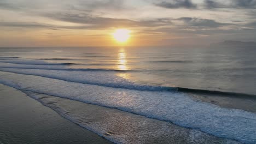
[[[99,85],[113,88],[126,88],[135,89],[139,91],[174,91],[174,92],[185,92],[185,93],[198,93],[207,95],[218,95],[224,97],[238,97],[238,98],[251,98],[256,99],[255,94],[246,93],[234,93],[234,92],[223,92],[223,91],[211,91],[208,89],[193,89],[185,87],[164,87],[164,86],[150,86],[140,85],[133,83],[123,77],[114,75],[111,72],[127,72],[127,70],[109,70],[109,69],[29,69],[29,68],[4,68],[0,67],[0,71],[6,71],[16,74],[27,74],[43,76],[52,79],[78,82],[90,85]],[[109,72],[109,73],[102,73]],[[132,71],[130,71],[132,72]],[[72,78],[71,78],[72,77]]]

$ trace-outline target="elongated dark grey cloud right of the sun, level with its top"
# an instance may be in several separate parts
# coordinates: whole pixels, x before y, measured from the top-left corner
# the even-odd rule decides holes
[[[200,19],[196,17],[181,17],[176,20],[183,21],[185,25],[191,27],[218,28],[222,26],[232,25],[231,23],[220,23],[214,20]]]

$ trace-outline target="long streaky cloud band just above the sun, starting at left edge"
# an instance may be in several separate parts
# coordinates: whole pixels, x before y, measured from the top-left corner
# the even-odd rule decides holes
[[[37,22],[0,22],[0,26],[4,27],[21,27],[21,28],[50,28],[50,29],[106,29],[113,27],[176,27],[178,29],[205,29],[220,28],[223,26],[233,25],[231,23],[220,23],[210,19],[200,19],[196,17],[181,17],[178,19],[161,18],[152,20],[129,20],[129,19],[113,19],[109,17],[96,17],[89,14],[70,14],[56,13],[44,14],[53,20],[73,22],[80,24],[79,26],[59,26],[49,25]],[[183,22],[182,24],[180,22]],[[178,22],[178,23],[177,23]]]

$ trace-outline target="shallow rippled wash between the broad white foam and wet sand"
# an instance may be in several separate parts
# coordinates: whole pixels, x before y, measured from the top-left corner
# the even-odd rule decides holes
[[[240,143],[215,137],[200,130],[179,127],[169,122],[158,121],[117,109],[30,91],[23,92],[73,123],[94,131],[94,133],[115,143],[153,143],[158,141],[159,137],[161,137],[161,143],[179,143],[180,141],[205,144],[216,143],[216,141],[223,144]],[[94,114],[91,115],[91,113]]]

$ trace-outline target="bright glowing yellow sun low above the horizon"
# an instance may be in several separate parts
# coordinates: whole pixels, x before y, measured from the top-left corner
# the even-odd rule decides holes
[[[112,35],[119,43],[125,43],[130,38],[130,33],[128,29],[117,29]]]

